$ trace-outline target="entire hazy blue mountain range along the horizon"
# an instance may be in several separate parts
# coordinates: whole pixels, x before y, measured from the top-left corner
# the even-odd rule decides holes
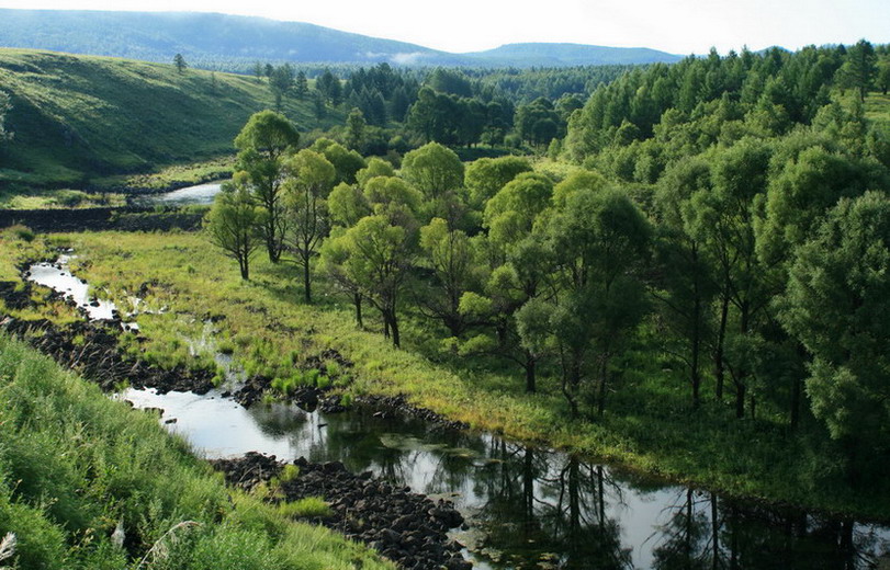
[[[511,44],[450,54],[301,22],[215,13],[0,9],[0,47],[52,49],[247,70],[255,61],[407,66],[562,67],[676,61],[646,48]]]

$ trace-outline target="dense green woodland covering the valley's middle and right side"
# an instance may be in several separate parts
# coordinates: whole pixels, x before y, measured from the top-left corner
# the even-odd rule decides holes
[[[255,115],[207,229],[244,278],[259,251],[294,261],[305,303],[327,280],[395,346],[409,319],[446,353],[514,367],[517,389],[557,378],[572,417],[597,421],[629,368],[655,362],[689,413],[725,410],[714,429],[802,431],[836,458],[820,469],[872,483],[890,458],[890,134],[864,103],[886,93],[889,58],[865,41],[711,53],[511,117],[452,71],[319,77],[359,110],[340,141],[301,150],[286,117]],[[429,142],[363,158],[368,123],[388,116],[365,100],[398,101]],[[448,123],[462,110],[473,128]],[[563,162],[464,163],[448,147],[498,129]]]

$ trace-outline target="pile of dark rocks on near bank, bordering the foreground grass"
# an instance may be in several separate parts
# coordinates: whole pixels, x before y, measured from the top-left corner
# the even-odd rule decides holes
[[[269,483],[284,464],[274,456],[248,453],[237,459],[211,461],[226,481],[245,490]],[[413,570],[470,569],[460,555],[462,546],[447,532],[463,524],[463,517],[446,501],[435,502],[407,487],[393,486],[372,477],[370,471],[351,474],[339,461],[313,464],[294,461],[300,474],[278,483],[278,497],[270,501],[297,501],[322,497],[331,516],[313,522],[361,540],[399,567]]]

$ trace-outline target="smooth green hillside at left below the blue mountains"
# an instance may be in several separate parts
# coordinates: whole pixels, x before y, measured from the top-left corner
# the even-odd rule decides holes
[[[111,174],[232,152],[255,112],[274,104],[255,78],[106,57],[0,49],[0,90],[10,94],[0,147],[0,189],[88,186]],[[301,129],[319,125],[309,101],[285,100]]]

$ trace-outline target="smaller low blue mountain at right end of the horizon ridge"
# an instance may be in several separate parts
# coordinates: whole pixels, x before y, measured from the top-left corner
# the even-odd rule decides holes
[[[507,44],[487,52],[464,54],[486,64],[563,67],[563,66],[610,66],[633,64],[673,64],[680,56],[666,54],[647,47],[606,47],[584,44]]]

